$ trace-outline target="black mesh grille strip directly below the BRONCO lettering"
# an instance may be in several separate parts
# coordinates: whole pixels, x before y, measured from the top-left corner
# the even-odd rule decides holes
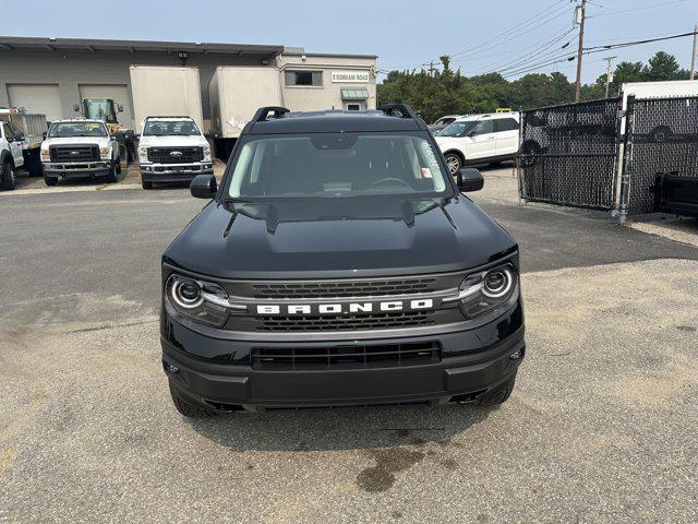
[[[257,331],[348,331],[416,327],[436,322],[434,310],[393,311],[387,313],[256,317]]]

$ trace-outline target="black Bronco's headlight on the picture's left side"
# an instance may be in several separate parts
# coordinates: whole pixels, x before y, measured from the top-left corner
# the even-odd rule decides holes
[[[171,275],[165,289],[169,303],[184,317],[217,327],[228,320],[228,294],[218,284]]]

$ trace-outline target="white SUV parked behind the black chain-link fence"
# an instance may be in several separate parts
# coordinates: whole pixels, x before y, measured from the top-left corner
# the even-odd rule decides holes
[[[519,114],[469,115],[435,139],[452,174],[466,164],[498,164],[514,158],[519,150]]]

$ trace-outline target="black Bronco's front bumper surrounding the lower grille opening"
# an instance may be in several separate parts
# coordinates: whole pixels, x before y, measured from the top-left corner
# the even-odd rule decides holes
[[[255,370],[241,364],[253,347],[333,347],[346,346],[347,342],[222,341],[201,335],[163,314],[163,365],[171,386],[189,402],[221,412],[476,401],[516,373],[526,349],[522,307],[517,302],[495,321],[473,330],[389,340],[400,344],[438,342],[443,355],[440,362],[370,369]],[[359,343],[385,344],[386,340]]]

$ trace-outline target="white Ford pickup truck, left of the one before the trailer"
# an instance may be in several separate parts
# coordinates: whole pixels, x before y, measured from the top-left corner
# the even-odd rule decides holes
[[[61,177],[105,177],[112,183],[121,172],[119,143],[100,120],[57,120],[41,143],[41,164],[47,186]]]

